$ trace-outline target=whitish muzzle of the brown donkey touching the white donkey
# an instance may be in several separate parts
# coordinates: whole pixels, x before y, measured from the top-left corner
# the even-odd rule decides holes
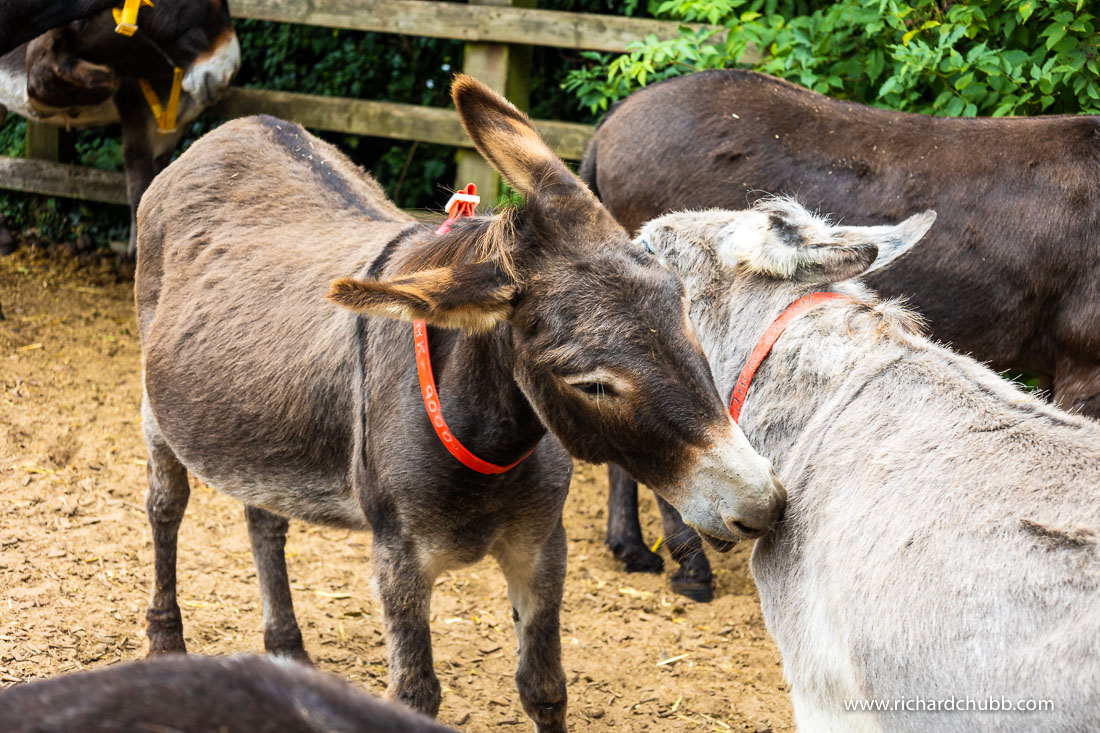
[[[719,553],[741,539],[767,534],[787,505],[787,490],[771,462],[757,453],[740,430],[732,430],[695,464],[674,489],[684,522]]]

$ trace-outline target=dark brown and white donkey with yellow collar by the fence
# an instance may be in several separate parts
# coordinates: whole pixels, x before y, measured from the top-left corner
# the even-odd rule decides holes
[[[186,124],[218,101],[241,61],[222,0],[157,0],[154,7],[142,8],[133,35],[121,35],[114,32],[112,13],[102,11],[54,28],[0,56],[0,119],[11,110],[64,127],[122,123],[132,225],[138,201],[170,160]],[[177,67],[182,77],[173,128],[167,119],[158,124],[141,80],[166,108]],[[131,256],[135,230],[131,226]]]

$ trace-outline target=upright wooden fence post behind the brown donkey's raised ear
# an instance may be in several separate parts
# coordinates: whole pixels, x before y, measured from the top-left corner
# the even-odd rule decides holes
[[[469,0],[477,6],[517,6],[534,8],[536,0]],[[531,46],[497,43],[468,43],[462,62],[462,70],[479,81],[501,92],[521,110],[527,110],[530,100]],[[501,176],[476,152],[462,150],[458,153],[455,188],[468,183],[477,184],[482,206],[496,203],[501,194]]]

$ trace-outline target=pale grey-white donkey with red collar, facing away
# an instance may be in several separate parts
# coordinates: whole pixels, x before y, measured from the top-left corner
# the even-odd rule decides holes
[[[683,278],[724,395],[792,303],[846,296],[817,296],[741,390],[789,492],[751,568],[799,729],[1100,731],[1100,425],[849,280],[934,218],[837,227],[772,200],[639,241]]]

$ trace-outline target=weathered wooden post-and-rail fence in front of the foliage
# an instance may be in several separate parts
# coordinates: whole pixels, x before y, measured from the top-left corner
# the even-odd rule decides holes
[[[539,10],[535,0],[231,0],[235,19],[301,23],[465,41],[463,72],[527,107],[530,47],[623,52],[647,35],[675,37],[680,24],[618,15]],[[746,56],[754,55],[749,51]],[[460,149],[457,186],[474,182],[498,190],[498,178],[472,150],[453,109],[367,99],[233,87],[208,114],[234,118],[267,113],[307,128]],[[580,160],[592,127],[536,120],[554,151]],[[0,188],[125,204],[122,174],[58,162],[58,131],[29,123],[25,158],[0,156]],[[487,197],[492,199],[493,197]]]

